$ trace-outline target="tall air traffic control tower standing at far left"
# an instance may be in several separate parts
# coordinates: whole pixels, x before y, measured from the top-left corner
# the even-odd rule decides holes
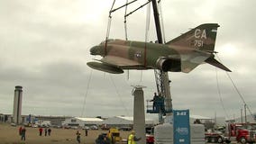
[[[23,86],[17,85],[14,90],[14,123],[22,122],[22,101],[23,101]]]

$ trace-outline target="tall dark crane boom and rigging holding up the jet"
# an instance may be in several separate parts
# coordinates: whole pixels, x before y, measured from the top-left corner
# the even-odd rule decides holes
[[[133,0],[132,2],[126,1],[126,4],[123,4],[122,6],[119,6],[117,8],[114,9],[114,3],[112,4],[111,10],[109,11],[109,22],[108,22],[108,28],[107,28],[107,34],[106,34],[106,40],[108,39],[108,35],[109,35],[109,31],[110,31],[110,23],[111,23],[111,14],[113,12],[115,12],[116,10],[119,10],[121,8],[123,8],[124,6],[126,6],[125,8],[125,14],[124,14],[124,28],[125,28],[125,39],[127,40],[127,33],[126,33],[126,17],[130,14],[133,14],[135,11],[139,10],[140,8],[142,8],[144,5],[151,3],[152,4],[152,8],[153,8],[153,14],[154,14],[154,22],[155,22],[155,27],[156,27],[156,31],[157,31],[157,38],[158,38],[158,43],[163,44],[163,35],[161,32],[161,27],[160,27],[160,14],[159,14],[159,10],[158,10],[158,3],[160,3],[160,0],[157,2],[157,0],[149,0],[147,3],[142,4],[140,7],[138,7],[137,9],[135,9],[134,11],[132,11],[129,14],[126,14],[127,11],[127,5],[128,4],[133,4],[134,2],[136,2],[137,0]],[[106,43],[105,43],[106,44]],[[163,116],[166,115],[166,120],[170,121],[170,117],[172,115],[172,100],[171,100],[171,95],[170,95],[170,88],[169,88],[169,75],[168,72],[163,72],[162,70],[158,70],[158,69],[154,69],[154,75],[155,75],[155,81],[156,81],[156,86],[157,86],[157,91],[158,94],[160,94],[163,98],[163,103],[161,103],[164,107],[164,109],[161,109],[160,111],[152,111],[152,110],[147,110],[147,112],[150,113],[159,113],[159,121],[160,123],[163,123]]]

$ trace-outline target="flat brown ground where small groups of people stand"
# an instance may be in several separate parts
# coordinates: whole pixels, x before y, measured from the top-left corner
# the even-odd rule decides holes
[[[0,123],[0,144],[73,144],[76,141],[77,130],[54,129],[51,128],[51,136],[39,136],[38,128],[26,128],[26,140],[22,141],[18,132],[19,126],[13,127],[10,124]],[[82,144],[94,144],[95,139],[101,133],[107,130],[88,130],[88,136],[85,131],[81,132]],[[121,137],[126,139],[129,131],[121,131]]]

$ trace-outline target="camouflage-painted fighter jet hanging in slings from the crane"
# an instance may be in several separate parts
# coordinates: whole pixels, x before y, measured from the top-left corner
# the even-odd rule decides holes
[[[133,40],[105,40],[90,49],[91,55],[103,58],[87,66],[112,74],[123,69],[160,69],[164,72],[188,73],[208,63],[231,72],[215,59],[217,23],[205,23],[165,44]]]

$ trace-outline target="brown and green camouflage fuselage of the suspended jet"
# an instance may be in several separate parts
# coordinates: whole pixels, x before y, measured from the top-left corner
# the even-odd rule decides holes
[[[156,61],[160,57],[169,57],[169,55],[179,57],[178,50],[169,49],[168,45],[131,40],[109,40],[106,48],[105,43],[102,43],[92,48],[91,54],[131,59],[141,64],[134,68],[142,69],[156,67]]]

